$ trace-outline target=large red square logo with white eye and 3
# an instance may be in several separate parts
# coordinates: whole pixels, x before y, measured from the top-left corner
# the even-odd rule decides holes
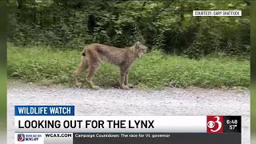
[[[207,133],[223,133],[223,116],[207,116]]]

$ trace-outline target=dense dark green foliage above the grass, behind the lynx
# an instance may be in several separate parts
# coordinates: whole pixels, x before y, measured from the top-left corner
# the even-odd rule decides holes
[[[248,56],[246,1],[9,0],[9,42],[81,50],[91,42],[150,48],[199,58]],[[242,10],[242,17],[193,17],[192,10]]]

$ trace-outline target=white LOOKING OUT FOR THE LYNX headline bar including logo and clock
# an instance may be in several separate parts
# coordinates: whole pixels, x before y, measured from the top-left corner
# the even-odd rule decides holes
[[[241,116],[16,116],[15,132],[241,133]]]

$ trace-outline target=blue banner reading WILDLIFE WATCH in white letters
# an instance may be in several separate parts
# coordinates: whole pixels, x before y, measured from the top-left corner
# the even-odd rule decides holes
[[[15,116],[74,116],[74,106],[14,106]]]

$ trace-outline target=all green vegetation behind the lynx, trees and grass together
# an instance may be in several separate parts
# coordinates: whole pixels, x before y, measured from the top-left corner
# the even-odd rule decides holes
[[[70,84],[86,44],[127,47],[140,41],[150,52],[132,68],[134,85],[250,85],[250,1],[9,0],[7,4],[9,78]],[[242,10],[242,16],[193,17],[193,10]],[[116,69],[104,65],[96,81],[112,86],[117,76]]]

